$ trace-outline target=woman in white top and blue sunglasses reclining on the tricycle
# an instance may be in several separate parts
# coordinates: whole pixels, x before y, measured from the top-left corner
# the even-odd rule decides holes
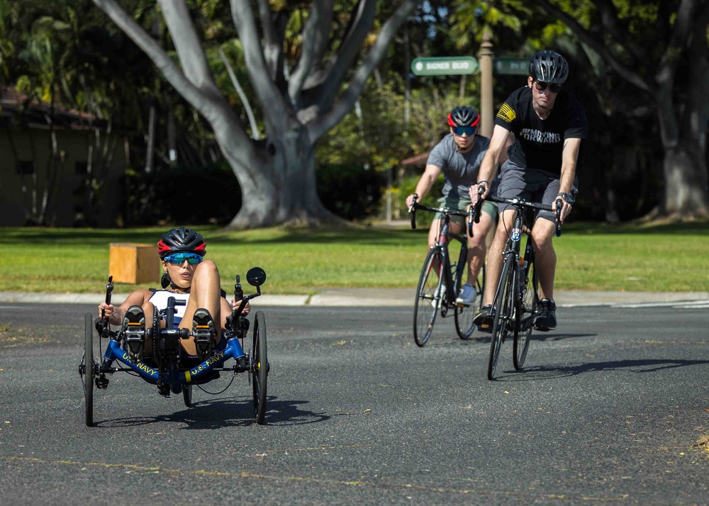
[[[188,359],[184,366],[189,367],[191,363],[208,358],[213,350],[225,344],[222,330],[227,317],[241,302],[226,300],[217,266],[204,259],[206,244],[195,230],[179,227],[165,232],[157,243],[157,254],[165,271],[162,290],[135,290],[117,308],[101,302],[99,317],[108,318],[112,325],[121,325],[127,337],[126,351],[132,360],[138,360],[152,356],[153,352],[152,340],[145,332],[146,322],[152,325],[157,311],[160,327],[165,327],[168,299],[184,300],[184,305],[175,308],[174,325],[191,331],[188,338],[180,339]],[[247,315],[249,311],[250,304],[246,302],[241,314]],[[144,339],[131,339],[132,336]]]

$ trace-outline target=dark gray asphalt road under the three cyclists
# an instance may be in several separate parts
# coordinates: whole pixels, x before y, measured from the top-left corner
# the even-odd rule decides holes
[[[94,305],[0,305],[0,502],[518,505],[709,502],[707,310],[559,310],[525,370],[409,308],[262,308],[269,412],[246,376],[162,398],[116,374],[84,425]],[[51,323],[45,323],[51,322]],[[228,378],[208,383],[221,390]]]

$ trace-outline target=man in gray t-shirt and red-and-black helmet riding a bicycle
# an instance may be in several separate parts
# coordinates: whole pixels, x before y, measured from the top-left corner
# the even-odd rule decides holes
[[[443,137],[428,156],[425,171],[416,184],[415,193],[406,198],[406,206],[411,207],[414,196],[422,199],[438,177],[443,174],[442,206],[467,210],[470,205],[468,190],[477,183],[478,169],[490,144],[488,137],[477,135],[480,115],[472,107],[454,108],[448,115],[450,133]],[[480,223],[473,225],[473,237],[468,237],[468,281],[458,294],[457,303],[471,305],[476,297],[475,280],[485,262],[485,238],[497,218],[497,204],[485,202],[480,213]],[[436,244],[442,226],[442,216],[434,216],[428,231],[428,247]],[[465,233],[464,218],[451,216],[451,232]]]

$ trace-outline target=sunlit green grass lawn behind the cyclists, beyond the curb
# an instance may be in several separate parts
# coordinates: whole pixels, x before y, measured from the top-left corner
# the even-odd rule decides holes
[[[196,228],[205,237],[208,258],[218,265],[228,293],[233,291],[235,274],[245,279],[252,266],[267,272],[264,293],[315,293],[319,287],[331,286],[413,288],[427,249],[427,230],[405,227],[338,232]],[[0,291],[100,293],[108,279],[108,244],[157,244],[165,227],[0,230]],[[554,240],[555,286],[560,290],[709,291],[707,232],[708,223],[569,224]],[[140,286],[159,287],[159,280]],[[116,293],[133,288],[116,283]]]

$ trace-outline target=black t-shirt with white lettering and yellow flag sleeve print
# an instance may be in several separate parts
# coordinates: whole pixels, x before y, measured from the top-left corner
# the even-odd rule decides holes
[[[553,174],[562,172],[564,140],[585,139],[588,134],[584,108],[563,89],[545,120],[532,107],[532,89],[524,86],[513,91],[498,111],[495,124],[515,134],[515,143],[508,149],[510,162]]]

